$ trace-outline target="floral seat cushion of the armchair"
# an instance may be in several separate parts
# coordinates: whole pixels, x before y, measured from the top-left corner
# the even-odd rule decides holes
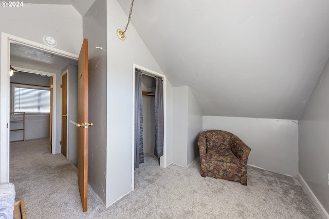
[[[207,163],[224,162],[230,164],[240,164],[239,158],[237,158],[231,150],[227,149],[208,148],[206,156]]]

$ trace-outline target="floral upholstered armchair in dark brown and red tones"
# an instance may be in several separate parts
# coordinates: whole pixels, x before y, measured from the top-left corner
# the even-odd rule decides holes
[[[236,135],[221,131],[200,132],[201,176],[222,178],[247,185],[247,162],[250,148]]]

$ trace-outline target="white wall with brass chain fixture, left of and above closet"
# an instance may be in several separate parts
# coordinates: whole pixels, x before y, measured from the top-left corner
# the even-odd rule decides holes
[[[107,0],[107,166],[106,206],[119,200],[132,189],[132,82],[133,63],[162,73],[139,34],[130,24],[125,41],[117,35],[117,29],[124,29],[127,16],[116,0]],[[169,89],[168,89],[169,88]],[[170,92],[171,85],[167,81]],[[170,93],[167,96],[170,96]],[[167,107],[172,100],[167,98]],[[167,116],[167,121],[172,117]],[[167,126],[167,130],[171,127]],[[167,135],[167,142],[172,142]],[[167,149],[171,145],[167,144]],[[167,164],[172,161],[168,160]],[[120,167],[120,168],[118,168]]]

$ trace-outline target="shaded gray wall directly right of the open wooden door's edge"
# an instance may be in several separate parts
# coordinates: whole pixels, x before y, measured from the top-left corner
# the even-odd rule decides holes
[[[88,184],[104,205],[108,188],[106,178],[109,177],[106,173],[106,19],[105,0],[96,1],[83,16],[83,37],[88,39],[89,56],[88,122],[94,123],[88,128]]]

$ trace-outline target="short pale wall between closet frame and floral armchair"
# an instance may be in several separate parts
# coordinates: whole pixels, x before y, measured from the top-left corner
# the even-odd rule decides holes
[[[197,137],[202,131],[202,112],[188,86],[174,87],[173,162],[188,167],[198,156]]]

